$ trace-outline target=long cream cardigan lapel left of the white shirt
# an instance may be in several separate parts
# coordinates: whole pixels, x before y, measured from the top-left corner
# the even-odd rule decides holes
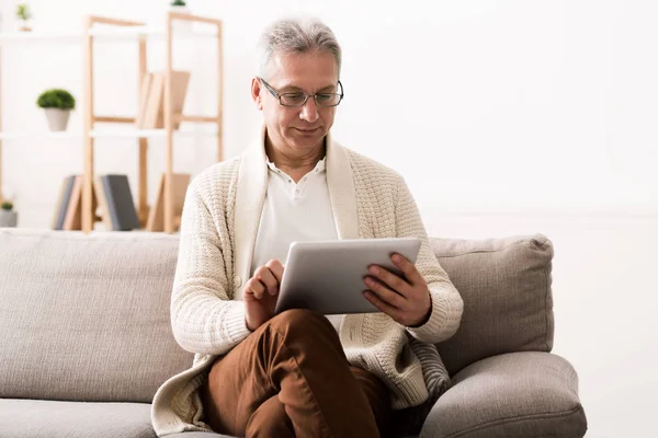
[[[234,285],[241,299],[241,288],[250,277],[253,246],[268,191],[268,164],[265,160],[265,127],[257,142],[242,154],[236,194],[236,268]]]

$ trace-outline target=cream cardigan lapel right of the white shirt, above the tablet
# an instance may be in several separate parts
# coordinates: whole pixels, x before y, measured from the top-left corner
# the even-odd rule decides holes
[[[338,238],[359,239],[356,191],[348,151],[327,135],[327,185]]]

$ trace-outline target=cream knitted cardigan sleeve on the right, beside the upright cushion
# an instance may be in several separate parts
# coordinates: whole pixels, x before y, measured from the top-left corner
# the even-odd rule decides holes
[[[430,319],[419,327],[407,327],[407,332],[420,342],[436,344],[455,334],[462,320],[464,303],[432,252],[418,206],[401,176],[395,206],[396,235],[421,240],[416,268],[427,281],[432,299]]]

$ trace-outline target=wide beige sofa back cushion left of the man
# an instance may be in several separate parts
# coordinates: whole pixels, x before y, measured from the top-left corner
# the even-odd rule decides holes
[[[171,333],[177,237],[0,229],[0,397],[150,402],[192,365]]]

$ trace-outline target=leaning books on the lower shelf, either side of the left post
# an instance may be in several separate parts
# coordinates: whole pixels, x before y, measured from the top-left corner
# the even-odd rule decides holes
[[[93,211],[101,207],[106,230],[131,231],[141,228],[127,175],[100,175],[93,182]],[[59,192],[52,228],[82,228],[82,175],[67,176]]]

